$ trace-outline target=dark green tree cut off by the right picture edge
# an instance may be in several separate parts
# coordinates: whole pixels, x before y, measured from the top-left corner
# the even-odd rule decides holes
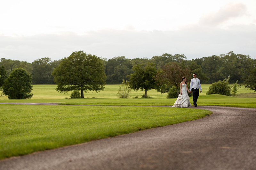
[[[256,91],[256,60],[252,62],[250,68],[247,71],[249,75],[244,81],[244,86]]]

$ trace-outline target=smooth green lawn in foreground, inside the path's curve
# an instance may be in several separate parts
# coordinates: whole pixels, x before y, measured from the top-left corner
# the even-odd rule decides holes
[[[0,105],[0,159],[191,121],[207,110]]]

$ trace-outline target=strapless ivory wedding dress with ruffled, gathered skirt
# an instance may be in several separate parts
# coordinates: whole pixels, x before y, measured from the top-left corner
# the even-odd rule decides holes
[[[182,94],[179,94],[179,97],[177,98],[177,100],[175,101],[172,107],[192,107],[189,102],[187,85],[184,85],[184,84],[181,85],[181,92]]]

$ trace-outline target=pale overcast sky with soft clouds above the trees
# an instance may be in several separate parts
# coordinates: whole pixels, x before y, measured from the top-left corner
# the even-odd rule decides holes
[[[255,0],[8,0],[0,6],[0,58],[256,58]]]

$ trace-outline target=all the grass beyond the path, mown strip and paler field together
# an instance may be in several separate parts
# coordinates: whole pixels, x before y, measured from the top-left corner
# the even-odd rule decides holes
[[[238,97],[229,97],[224,95],[206,95],[209,84],[202,85],[202,93],[199,93],[198,105],[210,106],[232,106],[232,107],[256,107],[256,93],[252,90],[241,87],[238,91]],[[105,85],[105,90],[96,92],[87,92],[84,99],[70,99],[69,94],[57,92],[56,85],[34,85],[34,96],[29,100],[8,100],[6,96],[0,97],[0,102],[29,102],[29,103],[45,103],[58,102],[68,105],[112,105],[112,106],[172,106],[176,99],[167,99],[167,94],[161,94],[156,90],[148,91],[148,95],[152,99],[133,99],[132,97],[141,96],[143,91],[131,92],[131,98],[118,99],[116,97],[119,85]],[[241,97],[240,97],[241,96]],[[95,98],[92,98],[95,97]],[[65,99],[66,98],[66,99]],[[190,97],[193,104],[193,98]]]

